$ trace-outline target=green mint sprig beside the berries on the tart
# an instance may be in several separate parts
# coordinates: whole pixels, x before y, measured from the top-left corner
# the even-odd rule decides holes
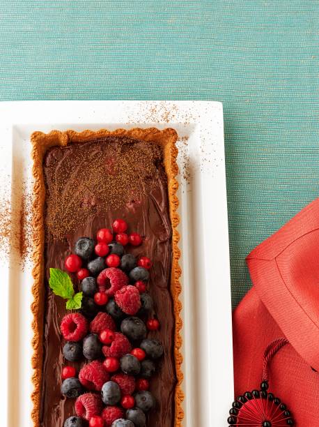
[[[81,308],[82,292],[73,289],[73,283],[70,276],[60,269],[50,269],[49,287],[58,297],[67,299],[66,308],[68,310],[77,310]]]

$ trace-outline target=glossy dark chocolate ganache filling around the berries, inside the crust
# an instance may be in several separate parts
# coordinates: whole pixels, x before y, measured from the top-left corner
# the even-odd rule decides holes
[[[67,313],[65,301],[49,289],[49,268],[64,268],[64,260],[79,237],[95,239],[100,228],[111,227],[123,218],[131,231],[143,237],[143,244],[128,248],[135,256],[146,255],[153,262],[148,292],[160,321],[159,331],[148,331],[164,347],[150,380],[150,392],[157,400],[147,414],[146,426],[172,427],[176,370],[173,357],[174,315],[170,293],[171,223],[167,178],[162,147],[127,137],[53,147],[43,162],[46,185],[45,207],[45,319],[41,426],[63,427],[75,415],[75,399],[61,394],[61,370],[66,364],[77,372],[85,363],[63,359],[65,340],[60,323]],[[72,274],[75,290],[79,281]]]

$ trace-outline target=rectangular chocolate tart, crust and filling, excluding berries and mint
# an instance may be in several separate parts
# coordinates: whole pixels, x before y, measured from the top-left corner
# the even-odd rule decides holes
[[[157,409],[147,426],[182,426],[181,291],[176,230],[177,134],[167,128],[114,131],[53,130],[31,135],[33,200],[33,411],[35,427],[62,427],[73,403],[60,392],[63,301],[48,286],[49,267],[63,268],[75,239],[93,237],[112,218],[127,219],[143,234],[153,259],[150,294],[161,322],[165,357],[150,391]],[[134,255],[141,255],[138,248]],[[152,337],[152,333],[149,335]],[[152,389],[153,387],[153,389]]]

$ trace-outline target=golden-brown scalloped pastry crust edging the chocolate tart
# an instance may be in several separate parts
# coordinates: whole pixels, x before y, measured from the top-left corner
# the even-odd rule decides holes
[[[33,160],[33,303],[31,304],[31,311],[33,313],[33,357],[32,357],[32,382],[33,393],[31,399],[33,402],[33,410],[31,418],[34,427],[40,427],[40,405],[41,405],[41,384],[42,384],[42,358],[43,358],[43,318],[44,318],[44,299],[45,289],[43,286],[44,278],[44,248],[45,248],[45,224],[44,224],[44,209],[45,209],[45,180],[42,170],[42,161],[47,149],[54,146],[66,147],[68,144],[75,142],[86,142],[96,138],[102,138],[109,135],[118,137],[125,136],[131,137],[135,140],[150,141],[160,144],[164,149],[164,167],[168,179],[168,193],[169,193],[169,215],[171,218],[172,234],[172,267],[171,267],[171,296],[173,298],[173,310],[175,316],[175,336],[174,336],[174,357],[176,364],[177,385],[175,390],[175,420],[174,426],[181,427],[184,412],[182,410],[182,400],[184,398],[181,384],[182,384],[182,354],[180,347],[182,346],[182,337],[180,330],[182,328],[182,319],[180,311],[182,304],[178,299],[181,292],[180,275],[181,269],[179,265],[180,249],[178,248],[178,241],[180,235],[177,227],[179,223],[178,197],[176,192],[178,190],[178,182],[176,176],[178,174],[178,165],[176,158],[178,149],[176,148],[176,141],[178,135],[176,130],[166,128],[159,130],[157,128],[133,128],[130,130],[116,129],[109,131],[100,129],[98,131],[84,130],[77,133],[74,130],[67,130],[61,132],[59,130],[52,130],[50,133],[34,132],[31,135],[32,144],[32,160]]]

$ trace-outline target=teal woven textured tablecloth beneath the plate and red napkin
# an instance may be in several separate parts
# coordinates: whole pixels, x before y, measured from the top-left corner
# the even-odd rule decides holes
[[[318,16],[318,0],[0,0],[0,100],[221,100],[235,306],[244,257],[318,195]]]

